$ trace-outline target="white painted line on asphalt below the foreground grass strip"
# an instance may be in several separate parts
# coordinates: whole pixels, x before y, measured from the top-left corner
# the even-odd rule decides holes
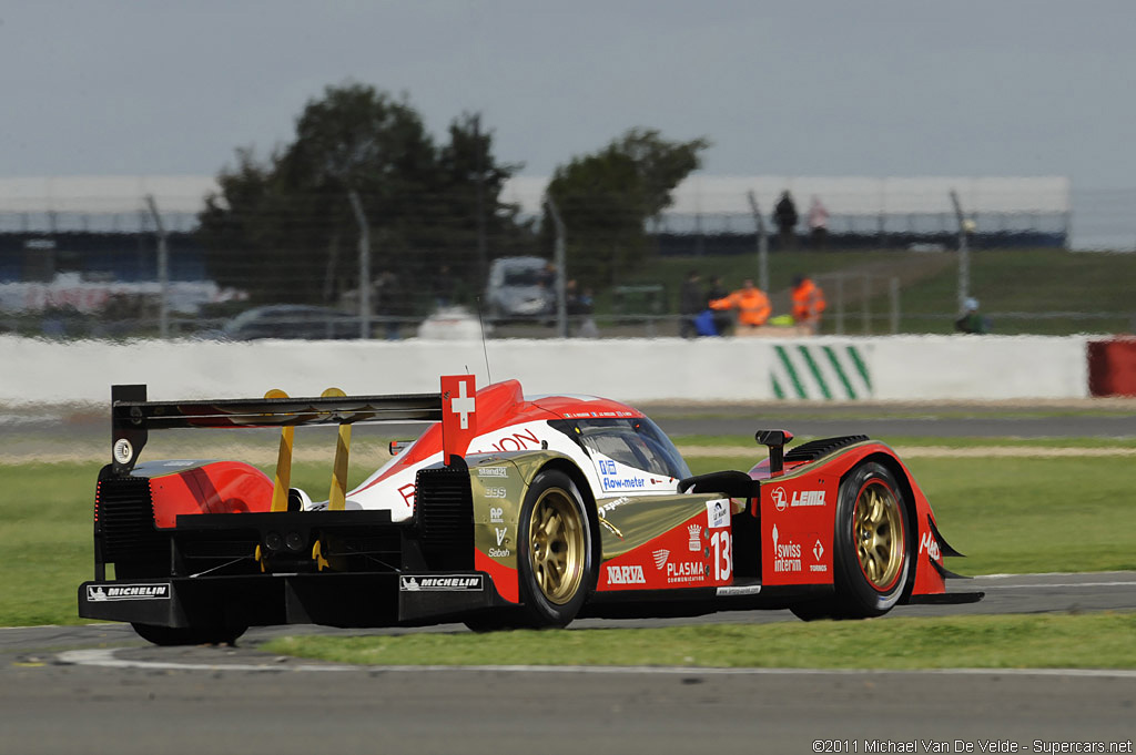
[[[942,674],[942,676],[1014,676],[1014,677],[1087,677],[1136,679],[1136,670],[1128,669],[715,669],[702,666],[599,666],[599,665],[321,665],[282,663],[177,663],[165,661],[126,661],[115,657],[125,648],[66,651],[57,657],[69,665],[90,665],[110,669],[150,669],[164,671],[390,671],[417,673],[421,671],[490,671],[495,673],[595,673],[595,674],[654,674],[654,676],[857,676],[857,674]]]

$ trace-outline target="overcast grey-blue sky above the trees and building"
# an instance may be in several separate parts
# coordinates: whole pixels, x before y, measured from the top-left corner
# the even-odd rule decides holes
[[[634,126],[703,171],[1131,187],[1136,2],[11,0],[0,177],[215,175],[346,81],[548,175]]]

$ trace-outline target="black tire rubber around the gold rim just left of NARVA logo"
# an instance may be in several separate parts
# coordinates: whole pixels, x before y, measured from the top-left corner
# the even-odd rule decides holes
[[[567,603],[558,604],[549,601],[536,585],[531,562],[531,544],[528,528],[536,502],[545,490],[560,488],[568,494],[579,515],[580,529],[584,532],[584,573],[580,577],[576,594]],[[595,548],[592,540],[592,517],[576,484],[568,475],[559,470],[544,470],[536,475],[521,506],[520,519],[517,522],[517,568],[519,571],[520,597],[531,622],[537,627],[566,627],[576,618],[584,606],[588,594],[595,586]]]

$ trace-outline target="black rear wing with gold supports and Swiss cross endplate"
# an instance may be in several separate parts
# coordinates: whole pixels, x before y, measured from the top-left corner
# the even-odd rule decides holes
[[[351,426],[375,422],[442,421],[443,459],[454,463],[476,435],[476,397],[473,375],[442,377],[441,393],[348,396],[328,388],[321,396],[292,399],[269,391],[264,399],[206,401],[147,401],[145,385],[110,388],[111,465],[116,475],[128,475],[145,446],[150,430],[170,428],[281,428],[273,511],[286,509],[292,468],[294,428],[337,425],[333,490],[329,509],[343,507]]]

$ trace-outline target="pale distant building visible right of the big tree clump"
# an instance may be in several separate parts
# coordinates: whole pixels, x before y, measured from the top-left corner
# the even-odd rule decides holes
[[[506,185],[502,200],[536,215],[546,185],[546,178],[517,177]],[[1069,245],[1072,190],[1064,177],[694,175],[678,185],[671,207],[648,229],[663,254],[749,253],[755,233],[749,193],[753,192],[768,227],[774,204],[786,190],[801,201],[813,195],[824,201],[833,249],[953,249],[959,224],[951,191],[975,221],[975,246]]]

